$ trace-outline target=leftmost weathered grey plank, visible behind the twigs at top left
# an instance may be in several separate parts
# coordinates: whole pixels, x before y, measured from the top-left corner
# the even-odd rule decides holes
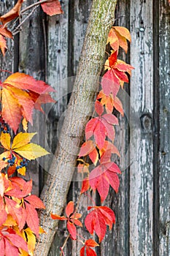
[[[9,10],[12,9],[12,7],[15,6],[15,1],[1,1],[0,5],[0,13],[1,15],[4,15],[7,13]],[[1,69],[8,70],[10,72],[15,72],[15,61],[14,61],[14,56],[15,56],[15,48],[18,48],[18,42],[15,40],[15,48],[14,48],[14,41],[12,39],[7,39],[7,52],[5,56],[3,57],[2,53],[0,53],[0,64],[1,64]],[[16,60],[17,61],[17,60]],[[1,72],[1,81],[4,81],[5,78],[9,76],[9,73],[7,72]]]

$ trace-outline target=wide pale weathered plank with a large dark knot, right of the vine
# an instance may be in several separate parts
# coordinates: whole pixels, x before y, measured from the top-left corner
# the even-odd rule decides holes
[[[152,1],[131,1],[130,255],[152,255]]]

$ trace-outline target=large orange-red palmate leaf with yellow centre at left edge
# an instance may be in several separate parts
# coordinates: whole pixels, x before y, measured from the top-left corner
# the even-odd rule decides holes
[[[42,110],[41,104],[55,102],[49,94],[53,88],[23,73],[9,75],[1,88],[1,115],[15,133],[21,118],[32,124],[34,108]]]

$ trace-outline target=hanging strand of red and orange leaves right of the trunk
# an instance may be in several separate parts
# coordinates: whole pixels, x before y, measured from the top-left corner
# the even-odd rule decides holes
[[[87,210],[90,213],[85,217],[85,227],[91,235],[96,233],[98,243],[104,239],[107,226],[111,230],[112,225],[115,224],[114,211],[103,206],[103,203],[109,193],[109,187],[112,187],[117,193],[120,185],[120,168],[115,162],[112,162],[112,154],[117,154],[120,157],[120,152],[114,145],[115,126],[119,125],[119,122],[117,116],[113,114],[113,110],[117,110],[123,116],[123,104],[117,94],[120,87],[123,89],[124,83],[128,83],[131,70],[134,69],[125,61],[117,59],[120,47],[127,53],[127,40],[131,42],[131,34],[128,29],[112,27],[107,39],[111,48],[110,55],[104,65],[105,73],[101,79],[101,91],[99,91],[95,102],[96,117],[91,118],[85,127],[85,142],[78,155],[78,172],[82,173],[84,177],[80,197],[82,194],[88,195],[88,192],[97,190],[101,198],[101,206],[88,206]],[[89,169],[89,166],[92,168]],[[88,196],[90,197],[90,195]],[[98,243],[93,239],[82,241],[78,237],[76,225],[82,227],[82,223],[78,220],[81,214],[77,214],[77,208],[74,209],[72,201],[66,206],[66,217],[56,214],[51,214],[51,217],[66,221],[69,237],[82,242],[80,256],[96,256],[94,248],[98,246]],[[63,255],[63,246],[61,254]]]

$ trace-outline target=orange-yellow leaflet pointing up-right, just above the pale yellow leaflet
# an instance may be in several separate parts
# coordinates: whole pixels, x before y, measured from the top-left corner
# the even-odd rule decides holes
[[[34,132],[34,133],[23,133],[23,132],[18,133],[18,135],[16,135],[13,140],[11,149],[15,150],[15,148],[20,148],[22,146],[25,146],[26,144],[28,144],[30,142],[31,138],[33,138],[34,135],[36,135],[36,132]]]

